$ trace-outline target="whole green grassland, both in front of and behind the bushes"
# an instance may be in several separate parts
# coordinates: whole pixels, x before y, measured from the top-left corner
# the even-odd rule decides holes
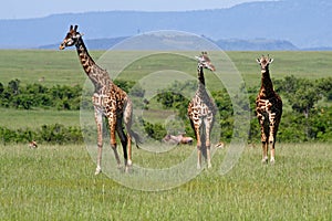
[[[92,51],[91,55],[97,61],[103,53]],[[227,52],[247,86],[260,83],[255,60],[262,53],[267,54]],[[332,52],[269,53],[274,59],[273,78],[332,75]],[[153,64],[157,61],[147,65]],[[179,69],[196,76],[196,64],[193,71],[188,65]],[[139,70],[133,65],[126,72],[139,75]],[[0,50],[0,82],[7,85],[14,78],[53,86],[83,85],[86,76],[74,51]],[[0,125],[10,128],[55,123],[80,126],[79,112],[0,109]],[[94,176],[95,159],[84,145],[0,146],[0,220],[332,220],[331,144],[277,144],[273,166],[260,162],[259,145],[246,146],[235,167],[220,175],[228,148],[216,151],[212,169],[187,183],[146,192],[103,173]],[[177,147],[158,161],[144,150],[133,151],[134,164],[158,167],[195,148]]]

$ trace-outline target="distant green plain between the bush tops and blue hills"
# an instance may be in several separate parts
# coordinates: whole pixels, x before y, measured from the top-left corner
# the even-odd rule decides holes
[[[90,54],[97,61],[105,52],[91,51]],[[117,52],[116,52],[117,53]],[[118,52],[121,53],[121,52]],[[127,53],[127,52],[126,52]],[[139,52],[133,52],[139,53]],[[259,83],[259,67],[256,59],[262,53],[268,52],[226,52],[235,63],[238,71],[242,74],[247,86],[255,86]],[[282,78],[287,75],[297,77],[319,78],[331,76],[332,52],[269,52],[274,59],[271,65],[271,74],[274,78]],[[110,57],[111,59],[111,57]],[[113,57],[114,59],[114,57]],[[146,59],[149,66],[157,66],[158,70],[166,70],[169,66],[172,56],[164,56],[166,62],[159,61],[160,56],[154,56],[155,61]],[[176,57],[178,59],[178,57]],[[162,62],[162,63],[160,63]],[[176,64],[175,70],[187,71],[196,74],[196,64],[194,60],[186,63],[170,62]],[[145,65],[144,63],[141,65]],[[194,65],[194,66],[193,66]],[[145,66],[143,66],[145,70]],[[144,75],[142,66],[128,66],[131,78],[136,75]],[[152,67],[153,69],[153,67]],[[154,70],[154,69],[153,69]],[[22,83],[39,83],[41,77],[45,77],[43,84],[83,84],[86,76],[79,63],[75,51],[20,51],[20,50],[0,50],[0,81],[7,84],[13,78],[19,78]],[[209,75],[206,76],[209,78]]]

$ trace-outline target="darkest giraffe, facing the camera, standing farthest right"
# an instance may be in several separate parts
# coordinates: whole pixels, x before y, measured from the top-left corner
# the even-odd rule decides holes
[[[270,78],[269,65],[273,62],[269,55],[257,59],[261,67],[261,87],[256,98],[256,114],[260,124],[262,162],[268,162],[268,149],[270,146],[270,162],[274,164],[274,144],[277,131],[282,115],[281,97],[274,92]]]

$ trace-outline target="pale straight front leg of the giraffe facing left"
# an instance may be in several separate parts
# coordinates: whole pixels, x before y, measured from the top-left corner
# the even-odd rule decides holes
[[[94,112],[96,127],[97,127],[97,166],[95,169],[95,175],[102,171],[102,154],[103,154],[103,115],[95,108]]]

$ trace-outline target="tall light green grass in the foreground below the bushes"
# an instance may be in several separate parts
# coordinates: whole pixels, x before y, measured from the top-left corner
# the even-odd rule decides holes
[[[188,152],[184,148],[179,155]],[[221,176],[226,147],[217,150],[212,169],[189,182],[145,192],[94,176],[94,160],[83,146],[1,146],[0,220],[331,220],[330,149],[278,144],[270,166],[260,162],[260,148],[247,147]],[[133,156],[138,165],[142,157],[155,159],[142,149]],[[159,156],[159,164],[169,156],[174,151]]]

